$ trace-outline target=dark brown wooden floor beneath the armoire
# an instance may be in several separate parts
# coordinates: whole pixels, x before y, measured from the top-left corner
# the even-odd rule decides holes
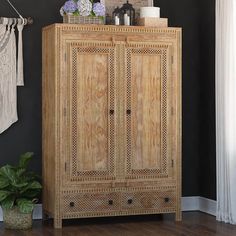
[[[28,231],[4,230],[2,236],[236,236],[236,226],[219,223],[215,217],[200,213],[183,213],[183,221],[173,215],[112,217],[63,221],[63,229],[55,230],[52,221],[34,221]]]

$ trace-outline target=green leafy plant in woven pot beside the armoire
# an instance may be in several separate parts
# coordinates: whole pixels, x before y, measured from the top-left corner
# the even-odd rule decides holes
[[[32,156],[32,152],[27,152],[20,156],[17,166],[0,168],[0,205],[7,229],[32,227],[34,204],[42,188],[38,176],[27,169]]]

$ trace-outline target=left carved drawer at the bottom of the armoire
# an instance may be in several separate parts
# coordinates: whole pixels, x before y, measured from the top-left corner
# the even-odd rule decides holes
[[[64,212],[103,212],[118,210],[118,193],[79,193],[63,196]]]

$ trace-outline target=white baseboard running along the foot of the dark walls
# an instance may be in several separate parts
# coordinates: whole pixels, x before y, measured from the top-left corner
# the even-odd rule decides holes
[[[216,201],[204,197],[182,197],[182,211],[201,211],[210,215],[216,215]],[[33,219],[42,219],[42,204],[36,204]],[[0,221],[3,220],[0,207]]]

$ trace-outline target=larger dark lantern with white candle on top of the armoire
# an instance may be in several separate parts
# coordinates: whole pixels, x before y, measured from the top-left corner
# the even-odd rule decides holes
[[[135,25],[135,10],[133,5],[127,1],[120,8],[121,22],[123,25]]]

